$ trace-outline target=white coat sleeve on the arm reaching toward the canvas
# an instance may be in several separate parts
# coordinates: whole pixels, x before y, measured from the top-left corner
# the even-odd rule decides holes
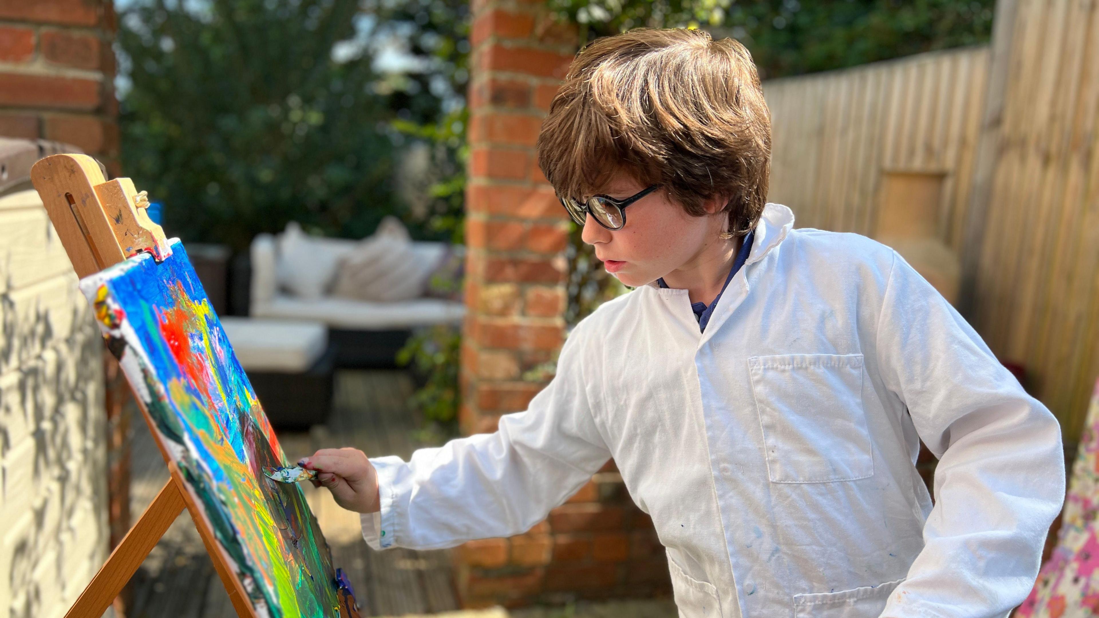
[[[526,411],[501,417],[495,433],[421,449],[408,462],[370,460],[381,497],[381,510],[362,517],[370,547],[437,549],[525,532],[607,463],[579,331],[566,340],[554,379]]]

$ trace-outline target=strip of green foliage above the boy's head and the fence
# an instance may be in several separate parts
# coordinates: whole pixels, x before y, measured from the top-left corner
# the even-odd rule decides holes
[[[752,52],[764,79],[985,43],[995,0],[550,0],[584,41],[702,27]]]

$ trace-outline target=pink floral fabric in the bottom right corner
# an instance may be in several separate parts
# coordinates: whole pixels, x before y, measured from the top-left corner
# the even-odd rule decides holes
[[[1099,616],[1099,382],[1073,464],[1057,545],[1015,616]]]

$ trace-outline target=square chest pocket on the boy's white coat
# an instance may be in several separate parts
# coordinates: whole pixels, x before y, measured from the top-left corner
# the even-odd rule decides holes
[[[862,354],[748,358],[771,483],[874,475]]]

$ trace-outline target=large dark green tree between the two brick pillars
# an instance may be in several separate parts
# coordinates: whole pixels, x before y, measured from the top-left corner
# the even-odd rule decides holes
[[[197,7],[197,8],[196,8]],[[289,220],[364,236],[397,210],[371,59],[340,56],[356,0],[155,0],[120,15],[126,175],[169,232],[237,250]]]

